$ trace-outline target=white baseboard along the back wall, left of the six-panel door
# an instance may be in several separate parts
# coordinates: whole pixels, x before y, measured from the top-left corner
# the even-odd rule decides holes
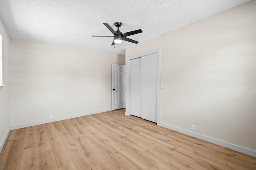
[[[72,119],[72,118],[75,118],[75,117],[81,117],[81,116],[86,116],[86,115],[92,115],[92,114],[102,113],[102,112],[111,111],[111,110],[112,110],[112,109],[98,110],[98,111],[92,111],[92,112],[89,112],[89,113],[82,113],[82,114],[78,114],[78,115],[70,115],[70,116],[65,116],[65,117],[59,117],[59,118],[56,118],[56,119],[48,119],[48,120],[43,120],[43,121],[37,121],[37,122],[32,122],[32,123],[26,123],[26,124],[22,124],[22,125],[15,125],[15,126],[11,126],[11,130],[20,129],[20,128],[24,128],[24,127],[35,126],[35,125],[41,125],[41,124],[44,124],[44,123],[51,123],[51,122],[54,122],[54,121]]]

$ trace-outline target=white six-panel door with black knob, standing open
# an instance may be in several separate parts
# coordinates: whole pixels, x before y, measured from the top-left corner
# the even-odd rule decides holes
[[[112,64],[112,110],[125,108],[125,66]]]

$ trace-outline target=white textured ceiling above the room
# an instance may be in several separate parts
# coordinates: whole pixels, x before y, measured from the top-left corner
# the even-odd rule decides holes
[[[114,22],[120,31],[142,29],[128,38],[145,41],[250,0],[0,0],[0,17],[11,38],[111,53],[134,43],[111,46]]]

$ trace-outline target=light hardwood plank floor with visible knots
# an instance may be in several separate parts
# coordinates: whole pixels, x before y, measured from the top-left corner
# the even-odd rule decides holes
[[[12,130],[0,170],[256,170],[256,158],[124,109]]]

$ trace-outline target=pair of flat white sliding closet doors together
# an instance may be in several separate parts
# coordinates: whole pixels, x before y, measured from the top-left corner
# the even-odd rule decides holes
[[[130,60],[130,114],[157,122],[157,53]]]

